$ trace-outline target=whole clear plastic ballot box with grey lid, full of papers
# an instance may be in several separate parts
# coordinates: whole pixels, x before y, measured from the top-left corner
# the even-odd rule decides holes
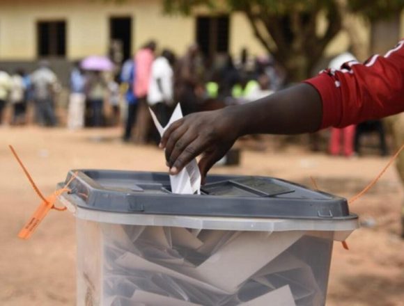
[[[344,199],[268,177],[178,195],[166,174],[81,170],[71,186],[77,305],[325,305],[333,241],[357,227]]]

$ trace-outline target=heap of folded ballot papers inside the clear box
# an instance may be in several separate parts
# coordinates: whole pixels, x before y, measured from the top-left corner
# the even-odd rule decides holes
[[[101,305],[323,305],[304,232],[101,226]]]

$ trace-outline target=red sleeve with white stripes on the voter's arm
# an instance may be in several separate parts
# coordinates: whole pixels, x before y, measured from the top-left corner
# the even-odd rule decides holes
[[[350,61],[304,81],[323,101],[321,128],[346,127],[404,111],[404,40],[384,56]]]

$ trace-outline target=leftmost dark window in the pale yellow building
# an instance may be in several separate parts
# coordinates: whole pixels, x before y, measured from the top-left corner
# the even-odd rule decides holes
[[[64,57],[66,55],[66,22],[38,22],[38,56]]]

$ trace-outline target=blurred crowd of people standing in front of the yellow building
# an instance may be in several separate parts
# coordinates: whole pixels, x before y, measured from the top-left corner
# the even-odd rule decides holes
[[[166,124],[178,102],[182,113],[247,103],[284,86],[285,73],[272,56],[254,57],[247,48],[205,58],[199,45],[178,56],[150,40],[122,63],[111,56],[88,56],[73,63],[67,105],[63,86],[49,61],[31,72],[0,68],[0,118],[10,106],[8,124],[39,124],[69,129],[123,125],[123,140],[156,143],[150,107]],[[133,132],[132,132],[133,131]]]

